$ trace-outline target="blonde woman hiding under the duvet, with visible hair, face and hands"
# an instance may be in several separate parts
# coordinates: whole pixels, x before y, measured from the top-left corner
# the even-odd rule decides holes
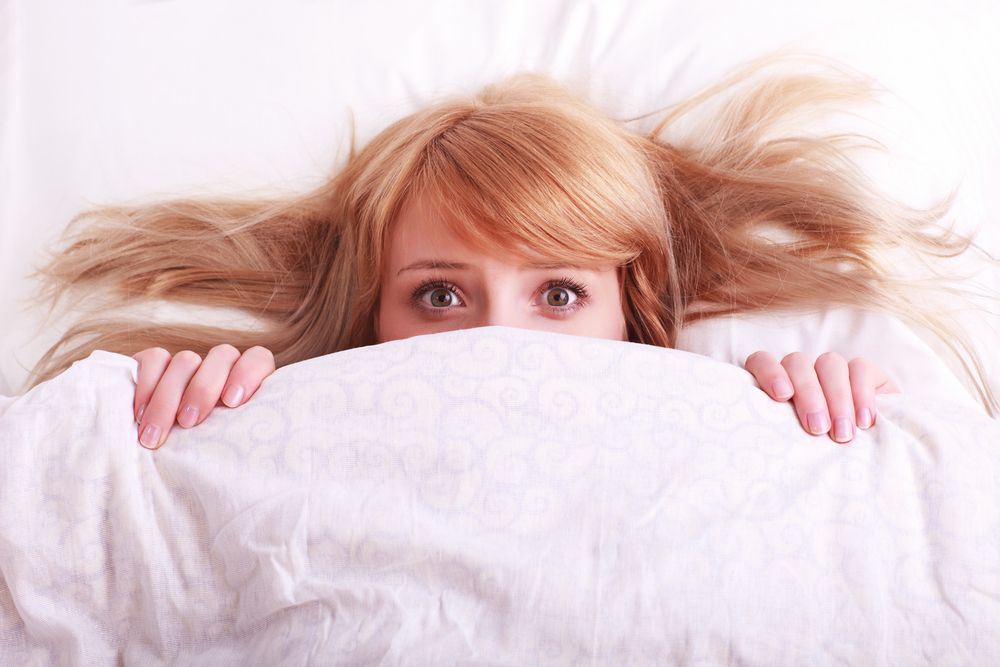
[[[34,381],[94,349],[134,354],[139,438],[156,448],[220,399],[245,403],[276,365],[352,347],[487,325],[673,346],[685,322],[821,303],[929,327],[967,352],[995,408],[926,286],[879,261],[900,245],[937,255],[970,246],[935,226],[946,204],[917,211],[880,197],[846,159],[849,137],[782,132],[802,112],[862,99],[862,82],[778,73],[748,85],[763,67],[673,107],[646,134],[549,79],[516,76],[396,122],[304,195],[85,214],[43,270],[54,300],[102,285],[104,307],[235,307],[261,326],[105,313],[67,332]],[[700,133],[664,138],[724,91]],[[780,363],[756,353],[746,368],[772,398],[794,402],[808,432],[838,442],[874,422],[875,395],[899,390],[873,364],[835,353]]]

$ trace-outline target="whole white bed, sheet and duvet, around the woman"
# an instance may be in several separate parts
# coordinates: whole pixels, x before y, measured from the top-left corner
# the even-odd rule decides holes
[[[26,274],[73,214],[304,189],[352,116],[363,142],[523,69],[625,118],[776,48],[835,57],[890,91],[862,166],[914,205],[957,187],[1000,255],[998,28],[971,1],[0,2],[0,661],[1000,661],[1000,427],[885,315],[718,319],[678,350],[417,337],[281,369],[156,453],[127,357],[23,392],[65,324]],[[997,313],[961,317],[1000,390]],[[837,445],[754,386],[757,349],[868,356],[904,393]]]

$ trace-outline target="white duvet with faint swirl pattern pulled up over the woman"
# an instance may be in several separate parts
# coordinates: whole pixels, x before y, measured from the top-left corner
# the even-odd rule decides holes
[[[1000,423],[850,445],[742,369],[490,327],[136,443],[135,362],[0,398],[5,664],[1000,662]]]

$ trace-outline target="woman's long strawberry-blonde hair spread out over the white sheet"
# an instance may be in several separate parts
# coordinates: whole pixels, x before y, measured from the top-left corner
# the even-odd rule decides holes
[[[796,130],[805,113],[869,99],[869,81],[833,69],[754,81],[776,62],[668,108],[646,133],[544,76],[517,75],[395,122],[305,194],[83,213],[40,270],[42,296],[53,307],[79,288],[106,298],[48,350],[31,383],[95,349],[262,345],[280,366],[373,344],[385,239],[420,197],[477,248],[622,267],[633,342],[673,346],[686,322],[724,314],[884,309],[938,335],[995,413],[969,341],[928,300],[926,282],[894,275],[885,261],[897,248],[951,257],[972,246],[938,224],[950,202],[895,202],[848,159],[871,142]],[[719,100],[697,132],[666,139]],[[942,299],[961,293],[935,284]],[[107,314],[145,299],[235,308],[261,326]]]

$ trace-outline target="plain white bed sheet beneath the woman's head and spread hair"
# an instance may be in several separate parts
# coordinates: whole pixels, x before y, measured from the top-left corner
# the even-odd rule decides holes
[[[553,74],[627,118],[775,48],[830,55],[892,93],[884,113],[873,110],[860,128],[892,157],[863,156],[863,166],[916,205],[960,186],[959,227],[981,229],[1000,255],[998,30],[1000,8],[975,0],[947,8],[0,0],[0,393],[21,390],[27,368],[65,327],[30,306],[26,276],[75,213],[147,198],[301,190],[343,159],[351,114],[363,142],[440,95],[524,69]],[[996,271],[982,279],[1000,290]],[[1000,386],[996,310],[969,314],[966,326]],[[816,317],[812,329],[824,327],[834,349],[874,349],[895,375],[939,360],[955,374],[933,341],[900,355],[913,348],[893,345],[856,313]],[[812,346],[807,333],[769,338],[776,322],[726,320],[686,340],[737,364],[748,347]],[[929,370],[917,384],[936,386],[937,377]]]

